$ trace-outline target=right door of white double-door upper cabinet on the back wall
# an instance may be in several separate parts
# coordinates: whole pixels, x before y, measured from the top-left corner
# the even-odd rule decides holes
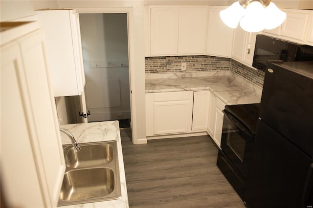
[[[178,54],[204,54],[206,8],[179,9]]]

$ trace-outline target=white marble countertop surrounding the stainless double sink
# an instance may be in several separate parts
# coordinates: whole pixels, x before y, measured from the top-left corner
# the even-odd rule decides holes
[[[102,141],[117,141],[118,149],[118,163],[119,163],[119,175],[121,181],[121,191],[122,196],[116,200],[78,204],[78,205],[68,205],[63,206],[64,208],[128,208],[128,196],[126,187],[126,178],[124,170],[124,161],[122,153],[121,136],[119,131],[118,121],[108,121],[108,122],[94,122],[85,124],[70,124],[61,125],[61,127],[69,130],[76,141],[80,143],[89,142],[102,142]],[[62,144],[71,144],[69,138],[66,134],[61,132]]]

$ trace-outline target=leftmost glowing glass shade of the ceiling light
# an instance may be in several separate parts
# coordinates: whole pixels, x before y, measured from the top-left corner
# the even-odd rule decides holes
[[[237,28],[239,21],[244,16],[245,9],[239,4],[239,1],[231,4],[228,8],[220,12],[222,21],[231,28]]]

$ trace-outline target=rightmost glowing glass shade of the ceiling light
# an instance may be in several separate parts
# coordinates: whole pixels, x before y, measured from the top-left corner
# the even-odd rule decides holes
[[[286,13],[278,9],[278,7],[270,2],[264,9],[264,21],[266,22],[265,29],[271,30],[281,25],[286,20]]]

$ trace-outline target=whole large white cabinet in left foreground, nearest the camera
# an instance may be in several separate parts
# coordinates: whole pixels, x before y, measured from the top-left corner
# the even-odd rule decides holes
[[[7,24],[0,53],[1,189],[8,207],[56,207],[65,162],[44,34],[37,22]]]

